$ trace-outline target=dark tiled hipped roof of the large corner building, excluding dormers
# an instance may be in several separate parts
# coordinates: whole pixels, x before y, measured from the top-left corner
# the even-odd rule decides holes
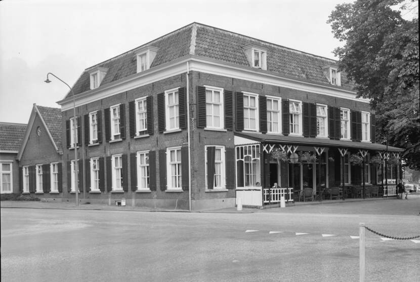
[[[267,49],[268,71],[331,86],[321,66],[337,64],[337,61],[199,23],[189,24],[139,48],[144,46],[159,48],[151,68],[190,54],[191,46],[193,47],[191,48],[192,55],[251,68],[243,50],[243,46],[247,44],[256,44]],[[101,86],[135,74],[137,71],[135,52],[139,48],[95,65],[108,68]],[[341,84],[342,86],[338,88],[353,89],[353,84],[348,81],[343,72]],[[88,90],[90,90],[90,75],[88,70],[85,70],[74,84],[73,92],[79,94]],[[67,95],[67,97],[70,96],[71,93]]]

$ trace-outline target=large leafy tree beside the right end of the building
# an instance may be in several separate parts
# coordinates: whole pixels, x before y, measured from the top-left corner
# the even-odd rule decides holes
[[[404,19],[396,8],[402,4],[404,0],[357,0],[337,5],[327,23],[334,37],[345,42],[334,50],[340,69],[375,110],[377,140],[404,148],[405,164],[420,169],[418,14]],[[402,11],[409,9],[403,5]]]

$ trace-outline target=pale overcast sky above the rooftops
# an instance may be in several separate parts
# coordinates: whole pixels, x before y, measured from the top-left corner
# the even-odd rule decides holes
[[[81,72],[192,22],[334,58],[326,24],[351,0],[0,1],[0,122],[24,123],[56,103]]]

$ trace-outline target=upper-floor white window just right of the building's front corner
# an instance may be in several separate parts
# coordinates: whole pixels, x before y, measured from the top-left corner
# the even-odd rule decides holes
[[[223,89],[205,86],[206,127],[223,128]]]

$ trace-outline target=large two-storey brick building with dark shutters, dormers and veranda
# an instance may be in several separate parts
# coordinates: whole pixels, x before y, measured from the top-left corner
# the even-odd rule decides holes
[[[401,151],[375,143],[374,112],[337,61],[199,23],[87,68],[72,89],[76,120],[72,94],[58,102],[67,199],[75,143],[81,201],[191,210],[382,184],[369,159]]]

